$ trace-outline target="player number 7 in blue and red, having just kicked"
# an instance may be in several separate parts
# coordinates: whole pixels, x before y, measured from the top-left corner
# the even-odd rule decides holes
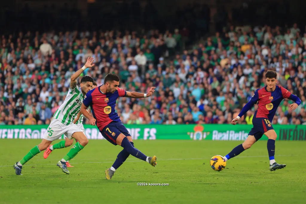
[[[119,88],[119,77],[115,74],[107,74],[104,84],[88,91],[86,98],[81,106],[81,113],[89,119],[91,125],[97,125],[99,131],[105,139],[113,145],[120,145],[123,150],[118,154],[114,164],[106,169],[106,179],[111,179],[116,169],[129,157],[133,155],[136,158],[147,161],[152,166],[156,166],[156,156],[147,157],[134,147],[132,137],[120,117],[115,112],[116,100],[118,97],[146,98],[151,96],[155,87],[151,87],[147,94],[138,92],[129,92]],[[92,115],[87,112],[91,107]]]

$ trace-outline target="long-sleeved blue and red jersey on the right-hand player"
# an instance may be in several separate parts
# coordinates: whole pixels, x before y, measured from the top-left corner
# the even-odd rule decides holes
[[[254,96],[251,98],[248,104],[243,107],[238,116],[242,117],[252,107],[253,104],[258,103],[258,109],[255,111],[256,117],[268,118],[269,121],[272,121],[281,101],[284,98],[293,99],[296,97],[293,96],[294,95],[291,95],[287,89],[281,86],[276,85],[274,91],[267,91],[267,86],[265,86],[255,91]]]

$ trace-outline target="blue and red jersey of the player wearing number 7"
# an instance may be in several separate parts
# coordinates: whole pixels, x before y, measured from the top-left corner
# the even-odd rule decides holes
[[[114,93],[102,93],[100,87],[88,91],[83,100],[86,107],[90,106],[92,115],[96,119],[96,125],[100,131],[112,121],[121,122],[120,117],[115,112],[116,100],[125,97],[126,91],[118,88]]]

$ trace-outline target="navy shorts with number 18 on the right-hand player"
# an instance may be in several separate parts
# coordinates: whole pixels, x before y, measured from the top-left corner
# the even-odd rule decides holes
[[[268,130],[273,130],[273,126],[267,118],[256,118],[256,115],[254,115],[252,122],[253,128],[251,129],[248,135],[254,135],[256,141],[263,136],[263,133],[267,132]]]

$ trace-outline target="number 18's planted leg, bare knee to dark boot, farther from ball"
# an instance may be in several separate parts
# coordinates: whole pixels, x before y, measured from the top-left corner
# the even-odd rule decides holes
[[[267,132],[264,133],[268,137],[268,142],[267,142],[267,149],[268,149],[268,154],[269,154],[269,160],[270,160],[270,171],[275,171],[276,169],[283,169],[286,167],[285,164],[278,164],[276,163],[274,159],[275,155],[275,140],[277,138],[276,132],[272,130],[268,130]]]

